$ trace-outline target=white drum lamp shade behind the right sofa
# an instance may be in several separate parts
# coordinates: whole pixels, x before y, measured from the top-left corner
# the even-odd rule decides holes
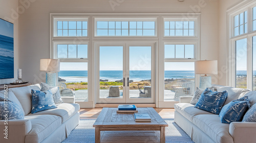
[[[217,60],[204,60],[195,62],[195,74],[218,74],[218,61]]]

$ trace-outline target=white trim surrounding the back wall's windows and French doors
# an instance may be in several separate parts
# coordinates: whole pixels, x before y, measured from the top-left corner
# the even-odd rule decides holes
[[[156,42],[155,45],[155,104],[156,107],[174,107],[177,101],[164,102],[164,42],[197,42],[197,60],[200,60],[200,17],[201,13],[193,13],[194,16],[186,16],[186,13],[51,13],[50,14],[50,58],[54,58],[54,42],[60,41],[86,41],[88,42],[88,94],[89,100],[86,103],[79,102],[80,107],[95,107],[96,102],[96,48],[95,42],[118,42],[118,41],[150,41]],[[88,37],[56,37],[54,36],[54,17],[84,17],[88,19]],[[112,17],[112,18],[156,18],[155,32],[156,36],[120,36],[120,37],[97,37],[95,36],[95,18]],[[176,18],[186,20],[190,18],[197,19],[195,23],[195,36],[164,36],[164,18]],[[174,60],[173,60],[174,61]],[[70,61],[72,62],[72,61]],[[82,61],[81,61],[82,62]],[[176,62],[176,61],[175,61]],[[182,61],[183,62],[183,61]]]

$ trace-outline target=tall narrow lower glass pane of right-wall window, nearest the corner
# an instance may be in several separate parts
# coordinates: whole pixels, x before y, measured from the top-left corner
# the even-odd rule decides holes
[[[247,39],[236,41],[236,87],[247,88]]]

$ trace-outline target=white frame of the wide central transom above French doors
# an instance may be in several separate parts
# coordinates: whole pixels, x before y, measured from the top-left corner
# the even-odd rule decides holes
[[[98,36],[97,35],[97,21],[128,21],[128,33],[130,33],[130,21],[154,21],[155,22],[155,35],[152,36]],[[143,29],[142,29],[143,30]],[[95,17],[94,18],[94,37],[157,37],[157,18],[148,17],[148,18],[136,18],[136,17]]]

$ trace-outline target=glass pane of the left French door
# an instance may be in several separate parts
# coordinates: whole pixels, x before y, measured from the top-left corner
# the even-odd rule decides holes
[[[99,98],[123,98],[123,47],[99,47]]]

